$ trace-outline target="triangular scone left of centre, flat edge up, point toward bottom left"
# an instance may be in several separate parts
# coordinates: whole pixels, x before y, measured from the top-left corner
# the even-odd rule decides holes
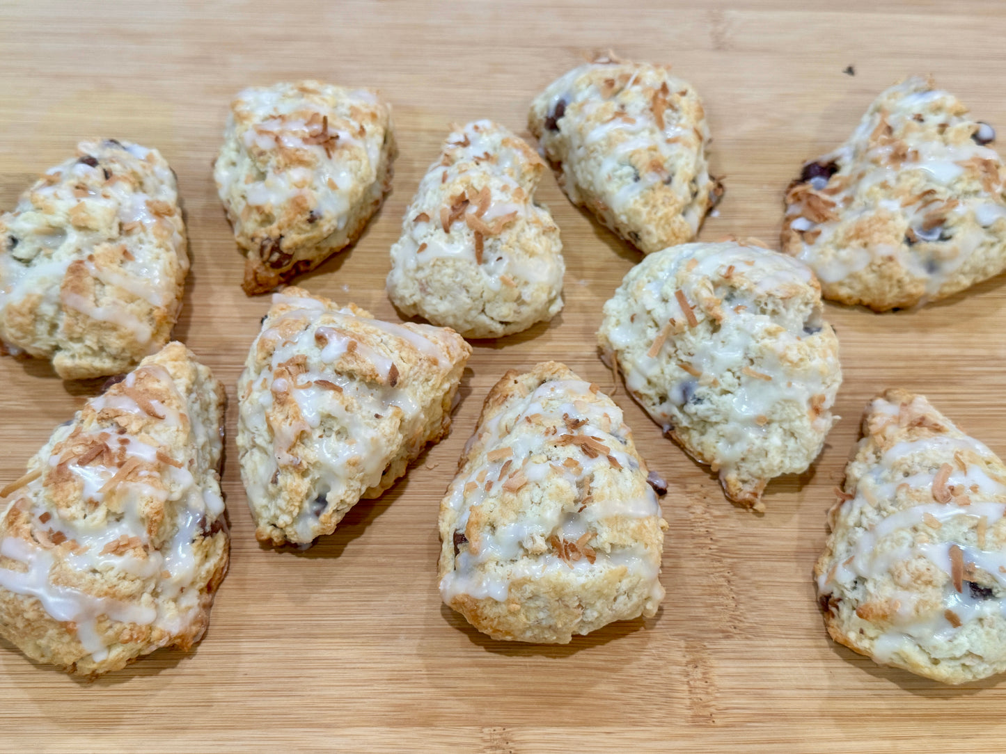
[[[256,536],[331,534],[451,426],[472,349],[449,328],[375,320],[288,288],[237,385],[237,447]]]

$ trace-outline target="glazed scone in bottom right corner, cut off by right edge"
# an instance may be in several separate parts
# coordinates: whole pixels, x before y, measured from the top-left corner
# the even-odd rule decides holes
[[[1006,466],[902,389],[862,435],[814,568],[828,633],[945,684],[1006,671]]]

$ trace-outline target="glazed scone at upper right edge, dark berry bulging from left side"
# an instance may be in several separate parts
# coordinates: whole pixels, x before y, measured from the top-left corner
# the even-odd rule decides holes
[[[1006,196],[994,138],[931,78],[891,86],[791,184],[783,250],[810,264],[826,299],[876,312],[998,274]]]

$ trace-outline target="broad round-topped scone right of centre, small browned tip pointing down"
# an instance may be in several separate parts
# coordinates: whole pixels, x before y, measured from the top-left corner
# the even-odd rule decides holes
[[[688,243],[637,264],[605,304],[603,358],[665,432],[757,511],[838,419],[838,339],[807,266],[756,240]]]

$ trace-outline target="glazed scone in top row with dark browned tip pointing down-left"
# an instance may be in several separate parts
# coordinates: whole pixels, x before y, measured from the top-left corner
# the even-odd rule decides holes
[[[373,89],[309,80],[238,93],[213,178],[246,256],[244,293],[353,243],[391,188],[394,156],[391,108]]]

